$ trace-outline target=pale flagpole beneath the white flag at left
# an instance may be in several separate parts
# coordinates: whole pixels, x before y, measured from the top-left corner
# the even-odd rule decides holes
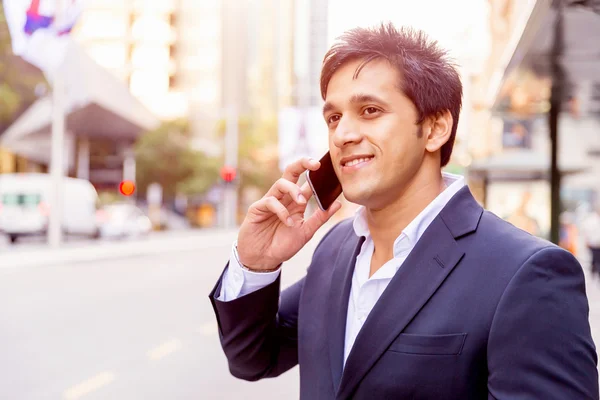
[[[62,0],[56,0],[55,20],[59,20],[63,11]],[[65,82],[60,68],[54,76],[52,87],[52,148],[50,158],[50,216],[48,220],[48,244],[58,247],[62,241],[62,208],[64,176],[64,139],[65,139]]]

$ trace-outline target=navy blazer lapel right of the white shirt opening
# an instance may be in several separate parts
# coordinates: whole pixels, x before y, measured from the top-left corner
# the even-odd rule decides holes
[[[456,238],[474,231],[482,212],[468,188],[463,188],[427,228],[360,330],[336,398],[351,397],[391,342],[452,272],[465,254]],[[344,300],[347,302],[348,297]]]

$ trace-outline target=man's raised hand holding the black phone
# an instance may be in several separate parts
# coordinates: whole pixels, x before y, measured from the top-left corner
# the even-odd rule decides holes
[[[276,269],[300,251],[341,208],[336,201],[327,211],[317,209],[304,219],[312,191],[308,184],[299,187],[298,179],[307,169],[315,171],[319,167],[320,163],[310,158],[290,164],[267,194],[250,206],[237,244],[239,260],[244,266],[256,271]]]

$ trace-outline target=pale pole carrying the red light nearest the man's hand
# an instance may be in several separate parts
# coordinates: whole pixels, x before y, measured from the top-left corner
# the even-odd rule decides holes
[[[225,165],[236,169],[238,166],[238,114],[234,106],[227,108],[227,126],[225,130]],[[237,184],[225,183],[223,222],[225,228],[237,226]]]

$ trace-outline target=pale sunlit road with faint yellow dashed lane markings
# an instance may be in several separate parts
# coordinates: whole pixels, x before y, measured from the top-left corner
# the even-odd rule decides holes
[[[198,237],[196,250],[0,265],[0,398],[297,398],[297,368],[256,383],[230,376],[207,295],[235,234]],[[286,264],[284,286],[319,237]],[[600,283],[588,281],[588,293],[598,343]]]

